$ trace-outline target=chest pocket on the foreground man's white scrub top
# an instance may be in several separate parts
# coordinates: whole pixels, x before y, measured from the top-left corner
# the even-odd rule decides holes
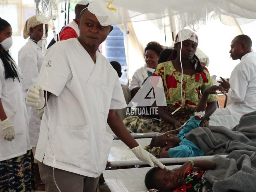
[[[104,115],[108,115],[111,98],[112,98],[112,92],[105,85],[101,85],[100,94],[101,94],[101,112]]]

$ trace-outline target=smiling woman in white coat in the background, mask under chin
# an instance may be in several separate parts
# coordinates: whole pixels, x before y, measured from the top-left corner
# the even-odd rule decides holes
[[[146,64],[144,67],[137,69],[133,74],[132,81],[129,85],[130,90],[136,86],[141,86],[148,76],[152,76],[158,64],[159,55],[163,49],[163,46],[155,41],[147,44],[144,50]]]

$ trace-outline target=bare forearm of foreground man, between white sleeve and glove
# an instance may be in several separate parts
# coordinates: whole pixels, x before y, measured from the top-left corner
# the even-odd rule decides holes
[[[126,129],[118,113],[110,109],[108,113],[108,125],[116,136],[121,139],[129,148],[137,147],[139,144]]]

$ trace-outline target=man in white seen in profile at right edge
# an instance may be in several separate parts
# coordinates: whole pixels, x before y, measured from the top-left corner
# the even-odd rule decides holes
[[[229,81],[220,77],[220,86],[228,91],[229,104],[216,109],[215,115],[246,114],[256,110],[256,53],[252,52],[252,40],[247,35],[239,35],[230,46],[230,57],[241,61]]]

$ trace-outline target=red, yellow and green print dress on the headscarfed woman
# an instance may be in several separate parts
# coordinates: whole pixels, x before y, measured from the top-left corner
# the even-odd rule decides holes
[[[171,114],[181,105],[181,73],[174,68],[172,61],[168,61],[160,63],[152,76],[160,76],[162,78],[167,103],[167,107],[165,109],[169,114]],[[209,71],[205,68],[202,72],[193,75],[183,74],[182,85],[182,108],[173,115],[173,118],[181,124],[184,124],[194,113],[204,90],[213,84]],[[209,103],[215,100],[216,95],[211,94],[209,95],[207,102]],[[201,122],[200,124],[200,126],[207,125],[208,121]],[[161,119],[160,127],[161,132],[174,129],[172,124],[164,121],[163,119]],[[178,133],[179,131],[172,132],[172,134],[176,135]]]

